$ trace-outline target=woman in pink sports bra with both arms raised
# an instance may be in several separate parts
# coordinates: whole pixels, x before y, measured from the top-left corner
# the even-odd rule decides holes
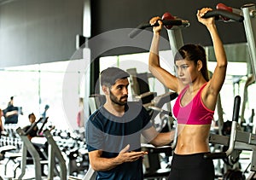
[[[207,74],[207,58],[205,50],[200,45],[186,44],[178,49],[174,57],[177,77],[160,67],[159,42],[163,27],[160,17],[152,18],[149,23],[154,26],[149,54],[149,71],[170,90],[178,93],[173,106],[173,114],[177,119],[177,146],[172,158],[172,171],[169,179],[214,179],[212,160],[206,160],[203,155],[210,151],[209,132],[213,119],[218,93],[224,84],[227,59],[223,44],[218,36],[214,18],[202,18],[207,11],[198,10],[197,19],[207,27],[212,38],[217,65],[212,78]]]

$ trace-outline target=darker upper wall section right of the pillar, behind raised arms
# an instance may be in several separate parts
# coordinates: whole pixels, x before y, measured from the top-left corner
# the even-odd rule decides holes
[[[211,38],[205,28],[196,20],[197,9],[202,7],[210,7],[216,9],[218,3],[225,3],[230,7],[240,9],[242,5],[246,3],[255,3],[255,0],[223,0],[221,2],[212,1],[188,1],[188,0],[94,0],[92,1],[92,30],[94,36],[100,35],[103,32],[113,31],[120,28],[135,28],[143,22],[153,16],[162,16],[165,12],[171,13],[173,16],[177,16],[183,20],[189,20],[190,26],[183,29],[183,41],[184,43],[196,43],[205,46],[212,45]],[[246,36],[243,28],[243,24],[239,22],[225,23],[218,20],[217,22],[219,34],[224,44],[242,43],[246,41]],[[152,31],[151,28],[147,29]],[[125,35],[124,35],[125,36]],[[162,36],[167,38],[166,31],[162,32]],[[114,37],[113,37],[114,38]],[[119,39],[121,37],[115,38]],[[143,39],[145,44],[150,44],[150,39]],[[126,36],[122,37],[123,41],[129,41],[131,39]],[[138,39],[138,41],[141,39]],[[99,46],[101,44],[98,44]],[[99,47],[98,47],[99,48]],[[170,49],[168,44],[163,46],[162,49]],[[103,55],[119,55],[129,54],[132,52],[145,51],[145,49],[134,49],[131,47],[123,47],[119,49],[111,49],[104,52]],[[147,51],[147,50],[146,50]]]

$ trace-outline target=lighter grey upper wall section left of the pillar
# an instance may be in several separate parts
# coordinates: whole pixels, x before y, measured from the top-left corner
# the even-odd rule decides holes
[[[83,30],[83,0],[16,0],[0,6],[0,67],[69,60]]]

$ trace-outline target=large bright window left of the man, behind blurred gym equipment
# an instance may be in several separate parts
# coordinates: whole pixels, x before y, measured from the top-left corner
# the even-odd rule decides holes
[[[83,96],[84,77],[79,71],[67,72],[69,61],[59,61],[40,65],[30,65],[22,67],[8,67],[0,71],[1,108],[7,107],[9,97],[14,96],[15,106],[22,107],[23,115],[19,116],[18,125],[27,125],[28,114],[35,113],[37,119],[44,112],[45,105],[49,105],[47,116],[49,122],[56,125],[58,129],[67,129],[70,122],[76,121],[76,113],[67,116],[67,111],[63,108],[63,91],[73,91],[72,94]],[[63,88],[65,74],[72,75],[72,88]],[[89,78],[89,77],[88,77]],[[79,98],[73,98],[70,104],[76,112],[79,110]],[[73,117],[73,118],[70,118]]]

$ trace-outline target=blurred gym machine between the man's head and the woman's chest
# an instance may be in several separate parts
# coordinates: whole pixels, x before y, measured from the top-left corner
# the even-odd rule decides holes
[[[146,107],[152,119],[152,124],[156,131],[166,132],[172,130],[172,113],[166,114],[166,116],[165,110],[161,107],[166,105],[167,111],[165,112],[172,112],[171,101],[177,97],[177,93],[171,92],[164,87],[165,93],[158,96],[157,92],[150,91],[148,85],[148,79],[154,78],[151,73],[137,73],[136,68],[126,69],[126,72],[130,74],[132,101],[142,102],[143,107]],[[158,114],[160,114],[160,120],[156,119]]]

